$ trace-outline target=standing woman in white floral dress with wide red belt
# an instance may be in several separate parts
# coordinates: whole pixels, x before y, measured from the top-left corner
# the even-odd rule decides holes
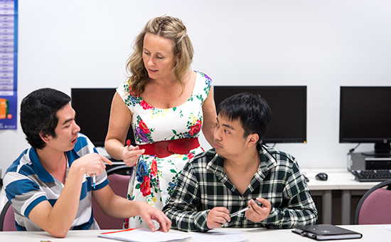
[[[136,37],[127,62],[130,76],[114,95],[105,142],[111,157],[135,164],[130,200],[163,209],[183,166],[203,152],[201,127],[213,146],[213,88],[207,75],[190,69],[192,61],[193,46],[179,19],[151,19]],[[124,147],[130,125],[136,147]],[[142,226],[139,216],[124,223],[124,228]]]

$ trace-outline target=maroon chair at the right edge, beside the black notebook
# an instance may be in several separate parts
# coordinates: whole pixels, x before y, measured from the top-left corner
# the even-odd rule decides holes
[[[386,189],[383,189],[387,186]],[[354,224],[391,223],[391,179],[367,191],[355,209]]]

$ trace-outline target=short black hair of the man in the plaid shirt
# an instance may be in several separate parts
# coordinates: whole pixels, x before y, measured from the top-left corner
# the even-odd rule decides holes
[[[238,93],[226,98],[218,105],[218,115],[228,120],[240,120],[245,130],[243,136],[257,134],[259,142],[266,135],[272,117],[267,101],[259,94]]]

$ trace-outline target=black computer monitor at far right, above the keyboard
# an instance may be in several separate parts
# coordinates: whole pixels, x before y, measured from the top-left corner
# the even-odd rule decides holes
[[[366,155],[390,155],[391,86],[341,87],[339,142],[375,143]]]

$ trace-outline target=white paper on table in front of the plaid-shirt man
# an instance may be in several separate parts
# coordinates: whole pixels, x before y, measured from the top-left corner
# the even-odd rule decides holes
[[[194,242],[224,241],[240,242],[247,240],[241,231],[208,231],[207,233],[188,232]]]

